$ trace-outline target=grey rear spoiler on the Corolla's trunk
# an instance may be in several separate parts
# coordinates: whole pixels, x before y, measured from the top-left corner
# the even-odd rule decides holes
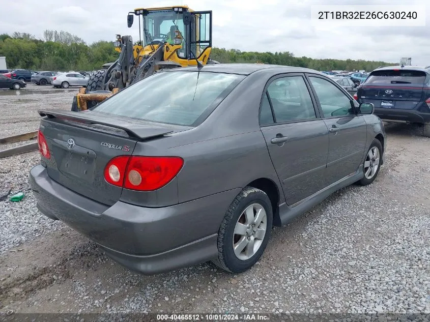
[[[85,124],[99,124],[121,129],[125,131],[129,136],[138,139],[147,139],[173,132],[173,130],[170,130],[168,128],[127,122],[104,115],[93,115],[91,114],[91,112],[72,112],[61,109],[53,109],[48,111],[38,110],[37,112],[40,116],[47,116],[48,119],[58,118]]]

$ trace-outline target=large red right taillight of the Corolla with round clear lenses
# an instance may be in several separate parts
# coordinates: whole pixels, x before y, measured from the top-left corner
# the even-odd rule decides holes
[[[173,180],[183,165],[179,157],[120,156],[106,165],[104,178],[126,189],[152,191]]]

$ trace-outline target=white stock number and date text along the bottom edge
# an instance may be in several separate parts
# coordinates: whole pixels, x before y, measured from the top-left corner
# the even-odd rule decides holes
[[[157,314],[157,320],[269,320],[269,316],[265,314]]]

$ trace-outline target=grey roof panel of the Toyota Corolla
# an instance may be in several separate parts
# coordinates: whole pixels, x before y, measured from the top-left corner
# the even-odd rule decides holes
[[[256,71],[268,69],[276,69],[277,72],[280,71],[284,73],[317,73],[325,75],[319,71],[308,68],[269,64],[209,64],[204,65],[204,67],[200,69],[200,72],[250,75]],[[171,69],[170,71],[177,71],[177,69]],[[198,69],[196,66],[184,67],[181,68],[181,71],[198,71]],[[167,72],[169,72],[169,70],[167,70]]]

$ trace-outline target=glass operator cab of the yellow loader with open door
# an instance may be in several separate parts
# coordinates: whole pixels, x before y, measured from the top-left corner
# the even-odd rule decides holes
[[[182,36],[179,59],[192,60],[193,53],[206,63],[212,48],[212,11],[192,11],[187,6],[135,9],[142,28],[142,42],[147,45],[173,44],[175,32]],[[185,17],[184,17],[185,16]],[[184,19],[185,18],[185,19]],[[206,50],[207,49],[207,50]]]

